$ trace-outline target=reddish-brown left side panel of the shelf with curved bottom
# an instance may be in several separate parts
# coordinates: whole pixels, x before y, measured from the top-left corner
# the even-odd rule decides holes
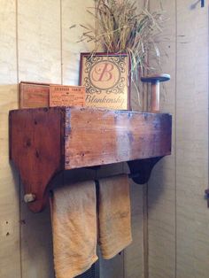
[[[10,158],[19,169],[26,194],[35,195],[32,211],[43,209],[46,187],[61,170],[63,114],[56,109],[31,109],[10,113]]]

